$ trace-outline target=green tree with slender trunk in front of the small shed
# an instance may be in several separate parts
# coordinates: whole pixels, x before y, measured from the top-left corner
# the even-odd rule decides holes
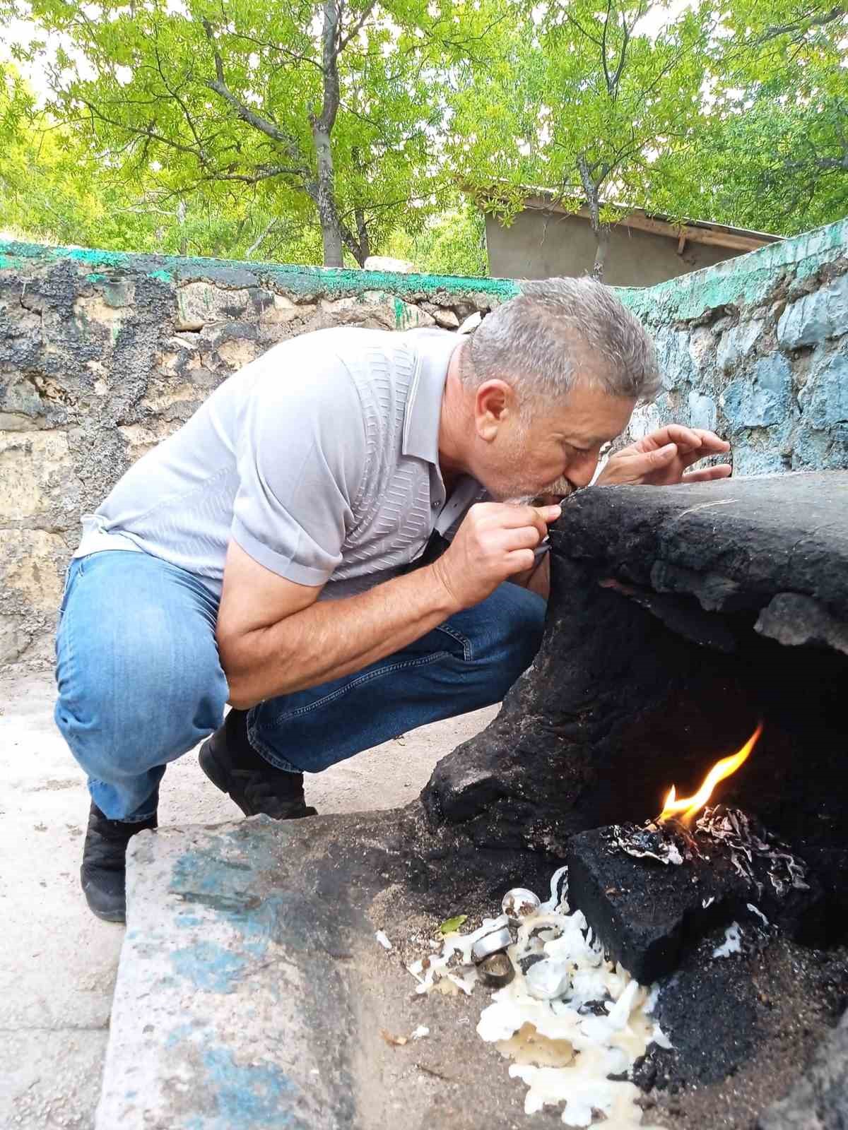
[[[611,225],[651,207],[657,159],[703,129],[713,31],[704,3],[665,26],[648,0],[555,0],[513,21],[499,64],[453,97],[450,151],[462,180],[507,221],[526,185],[588,209],[603,277]]]

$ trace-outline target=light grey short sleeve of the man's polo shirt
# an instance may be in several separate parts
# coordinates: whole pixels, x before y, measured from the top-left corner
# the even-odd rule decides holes
[[[261,362],[237,431],[231,534],[272,573],[323,585],[341,562],[365,471],[358,392],[313,334]]]

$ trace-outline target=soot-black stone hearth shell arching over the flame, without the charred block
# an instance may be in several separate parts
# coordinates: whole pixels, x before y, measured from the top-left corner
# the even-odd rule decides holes
[[[848,923],[848,473],[592,487],[551,539],[542,647],[436,766],[433,826],[562,858],[574,833],[693,792],[762,719],[720,799],[815,859]]]

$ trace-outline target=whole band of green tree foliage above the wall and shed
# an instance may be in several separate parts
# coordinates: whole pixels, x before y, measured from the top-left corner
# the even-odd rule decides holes
[[[23,0],[0,0],[2,14]],[[32,0],[0,72],[0,225],[106,247],[485,270],[528,185],[791,234],[848,211],[828,0]],[[18,12],[20,14],[20,12]],[[621,202],[624,211],[612,207]]]

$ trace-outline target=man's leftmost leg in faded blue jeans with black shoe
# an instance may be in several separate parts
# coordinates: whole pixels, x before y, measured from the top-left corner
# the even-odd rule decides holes
[[[55,721],[88,774],[83,887],[123,918],[130,836],[155,827],[165,765],[220,724],[228,690],[215,643],[217,601],[149,554],[75,560],[57,635]]]

